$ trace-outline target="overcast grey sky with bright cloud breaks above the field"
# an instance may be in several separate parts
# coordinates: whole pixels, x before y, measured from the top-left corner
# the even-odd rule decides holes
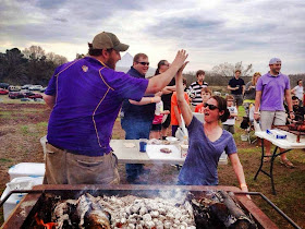
[[[283,73],[305,73],[305,0],[0,0],[1,52],[38,45],[73,60],[102,31],[154,68],[183,48],[186,71],[243,61],[265,73],[279,57]]]

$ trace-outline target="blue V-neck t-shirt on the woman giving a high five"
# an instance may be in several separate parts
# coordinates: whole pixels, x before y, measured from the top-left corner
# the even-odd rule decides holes
[[[237,152],[231,133],[222,130],[221,136],[210,142],[203,123],[193,117],[188,130],[188,150],[179,173],[180,183],[186,185],[217,185],[217,166],[223,152],[228,155]]]

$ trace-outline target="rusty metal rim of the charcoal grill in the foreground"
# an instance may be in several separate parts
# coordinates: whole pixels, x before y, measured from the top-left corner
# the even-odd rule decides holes
[[[234,193],[235,200],[243,210],[249,214],[258,228],[278,228],[240,189],[234,186],[182,186],[182,185],[37,185],[33,190],[24,191],[28,194],[14,209],[9,219],[3,224],[3,229],[30,228],[35,221],[35,215],[46,210],[46,195],[52,194],[61,198],[77,198],[84,193],[91,195],[135,195],[142,197],[158,196],[160,192],[186,192],[190,191],[195,196],[200,196],[209,191],[225,191]],[[248,193],[257,194],[257,193]],[[267,200],[267,198],[266,198]],[[5,200],[4,200],[5,201]],[[50,213],[46,213],[48,215]],[[289,220],[289,219],[288,219]]]

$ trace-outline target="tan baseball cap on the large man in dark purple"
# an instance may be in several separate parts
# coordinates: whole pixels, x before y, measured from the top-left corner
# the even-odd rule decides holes
[[[108,32],[97,34],[93,40],[94,49],[113,48],[117,51],[126,51],[129,47],[129,45],[120,43],[120,40],[114,34]]]

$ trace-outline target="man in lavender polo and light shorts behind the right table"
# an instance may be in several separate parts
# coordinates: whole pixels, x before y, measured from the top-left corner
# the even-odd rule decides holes
[[[271,125],[285,125],[286,114],[283,106],[284,99],[288,104],[290,118],[294,119],[290,93],[290,81],[289,76],[280,72],[281,63],[282,62],[279,58],[272,58],[269,61],[270,71],[257,81],[254,119],[258,120],[260,118],[263,131],[266,131],[267,129],[270,130]],[[271,143],[265,141],[265,145],[266,156],[271,156]],[[280,150],[283,152],[281,148]],[[269,157],[265,158],[265,161],[269,160]],[[286,158],[286,154],[281,155],[281,164],[289,168],[294,167]]]

